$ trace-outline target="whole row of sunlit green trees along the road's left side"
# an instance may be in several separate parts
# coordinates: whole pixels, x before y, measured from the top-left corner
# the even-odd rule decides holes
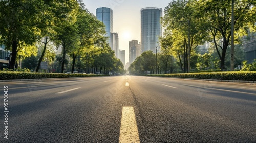
[[[123,70],[106,44],[103,23],[85,9],[82,0],[4,0],[0,2],[0,20],[0,42],[12,52],[9,69],[15,68],[18,59],[39,53],[36,71],[42,61],[56,60],[63,73],[67,57],[72,72],[75,66],[86,72]],[[50,42],[61,49],[60,55],[54,54]]]

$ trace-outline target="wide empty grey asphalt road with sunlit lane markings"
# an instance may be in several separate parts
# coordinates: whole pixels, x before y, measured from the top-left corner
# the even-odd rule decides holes
[[[256,142],[256,85],[141,76],[0,85],[0,142]]]

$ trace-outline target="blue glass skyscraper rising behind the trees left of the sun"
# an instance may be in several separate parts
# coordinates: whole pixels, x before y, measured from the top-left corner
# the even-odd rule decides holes
[[[113,40],[111,33],[113,32],[113,11],[110,8],[101,7],[96,9],[96,17],[106,26],[106,37],[109,37],[110,47],[113,49]]]

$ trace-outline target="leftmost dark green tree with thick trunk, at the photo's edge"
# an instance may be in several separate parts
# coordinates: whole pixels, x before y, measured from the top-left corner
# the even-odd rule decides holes
[[[9,69],[14,69],[19,45],[34,45],[38,35],[41,1],[0,1],[0,40],[12,51]]]

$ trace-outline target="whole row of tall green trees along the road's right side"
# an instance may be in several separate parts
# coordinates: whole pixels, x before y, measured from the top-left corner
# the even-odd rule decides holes
[[[170,2],[165,7],[165,15],[162,18],[164,36],[159,39],[165,63],[170,56],[174,56],[179,62],[180,70],[183,73],[190,72],[193,69],[193,58],[198,55],[197,47],[210,42],[215,50],[208,52],[209,55],[204,55],[203,58],[209,59],[214,57],[211,54],[217,53],[219,68],[221,71],[226,70],[229,54],[227,51],[231,44],[231,3],[232,0]],[[234,0],[234,4],[234,41],[239,44],[242,36],[255,31],[256,1]],[[200,60],[202,61],[202,58],[198,62]],[[204,65],[198,63],[199,67],[204,68]]]

